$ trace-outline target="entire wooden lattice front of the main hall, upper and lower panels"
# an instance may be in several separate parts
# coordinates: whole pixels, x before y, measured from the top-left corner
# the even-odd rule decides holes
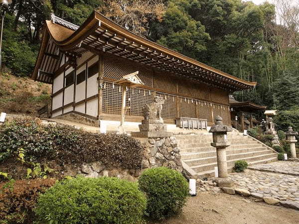
[[[228,106],[228,93],[224,90],[211,88],[192,80],[184,80],[170,72],[153,69],[147,65],[132,63],[127,59],[110,55],[103,57],[103,76],[108,80],[119,80],[124,75],[139,71],[139,77],[143,83],[154,90],[142,88],[129,88],[127,92],[126,106],[130,107],[127,115],[142,116],[144,105],[153,101],[155,95],[164,99],[162,117],[175,119],[177,117],[192,117],[214,121],[216,115],[223,118],[223,122],[230,123]],[[180,96],[179,96],[180,95]],[[188,97],[182,97],[188,96]],[[122,104],[122,87],[105,81],[103,89],[103,114],[120,115]],[[195,99],[200,98],[201,100]],[[206,101],[214,101],[213,104]],[[212,112],[213,111],[213,112]]]

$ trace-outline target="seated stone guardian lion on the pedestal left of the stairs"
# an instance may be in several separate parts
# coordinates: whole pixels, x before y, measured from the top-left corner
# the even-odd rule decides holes
[[[150,104],[144,106],[142,112],[143,116],[146,120],[162,120],[161,112],[162,112],[162,104],[164,104],[164,100],[160,97],[155,97],[154,101]]]

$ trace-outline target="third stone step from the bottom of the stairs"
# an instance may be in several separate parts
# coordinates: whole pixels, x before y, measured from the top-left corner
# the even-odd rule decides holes
[[[247,152],[257,152],[257,151],[270,151],[267,147],[252,147],[252,148],[242,148],[242,149],[229,149],[226,150],[226,155],[232,155],[232,154],[240,154],[240,153],[247,153]],[[206,158],[206,157],[213,157],[216,156],[216,149],[213,151],[197,151],[197,152],[187,152],[182,153],[181,152],[181,158],[182,160],[188,160],[188,159],[199,159],[199,158]]]

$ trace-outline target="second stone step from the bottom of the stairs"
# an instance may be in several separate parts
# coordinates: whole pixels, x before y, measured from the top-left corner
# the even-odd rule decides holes
[[[238,153],[238,154],[230,154],[226,155],[226,158],[228,161],[232,160],[240,160],[240,159],[245,159],[246,158],[251,158],[254,156],[263,156],[263,155],[268,155],[272,154],[271,150],[263,150],[263,151],[253,151],[253,152],[244,152],[244,153]],[[217,163],[217,157],[216,155],[211,156],[211,157],[205,157],[205,158],[193,158],[193,159],[186,159],[184,162],[188,166],[196,166],[196,165],[201,165],[201,164],[206,164],[206,163]]]

